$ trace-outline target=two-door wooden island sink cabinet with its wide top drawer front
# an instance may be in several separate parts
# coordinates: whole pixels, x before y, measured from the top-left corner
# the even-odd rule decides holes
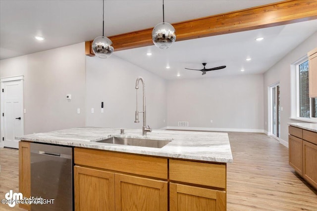
[[[75,148],[74,163],[75,211],[168,210],[167,159]]]

